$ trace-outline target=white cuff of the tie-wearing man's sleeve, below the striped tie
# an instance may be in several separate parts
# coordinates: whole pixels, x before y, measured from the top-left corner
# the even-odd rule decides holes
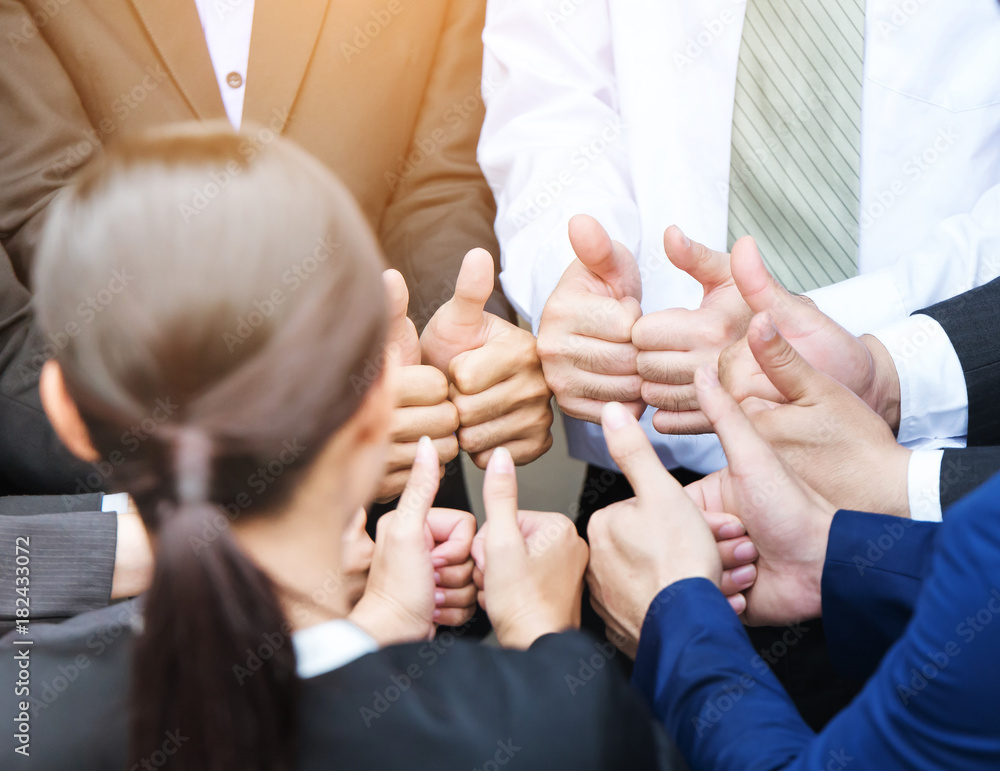
[[[896,284],[882,273],[855,276],[806,295],[852,335],[863,335],[908,315]]]

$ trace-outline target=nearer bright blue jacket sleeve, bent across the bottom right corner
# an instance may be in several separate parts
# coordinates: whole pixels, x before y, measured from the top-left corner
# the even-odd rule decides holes
[[[903,636],[820,734],[798,716],[722,594],[705,579],[664,590],[633,681],[694,768],[719,771],[1000,765],[1000,480],[940,526]],[[891,550],[886,552],[891,553]],[[825,598],[824,598],[825,600]]]

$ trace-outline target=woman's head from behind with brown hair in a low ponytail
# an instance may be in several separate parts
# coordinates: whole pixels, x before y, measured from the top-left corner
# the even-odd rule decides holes
[[[163,730],[197,726],[185,767],[289,762],[291,654],[233,679],[233,658],[282,615],[228,522],[278,516],[331,447],[344,510],[370,494],[389,412],[380,272],[328,171],[228,127],[123,141],[50,207],[36,307],[68,342],[47,365],[46,407],[71,449],[112,469],[107,486],[132,494],[156,542],[134,760]]]

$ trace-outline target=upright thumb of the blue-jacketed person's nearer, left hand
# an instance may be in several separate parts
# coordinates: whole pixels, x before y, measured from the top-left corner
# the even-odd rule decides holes
[[[618,402],[609,402],[601,411],[601,426],[608,452],[628,478],[640,502],[665,504],[665,493],[681,492],[680,483],[663,467],[635,416]]]

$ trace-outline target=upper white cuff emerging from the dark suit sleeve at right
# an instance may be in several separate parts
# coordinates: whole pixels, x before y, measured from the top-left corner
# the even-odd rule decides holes
[[[969,397],[962,362],[948,334],[930,316],[915,314],[873,333],[899,374],[899,441],[965,436]]]

